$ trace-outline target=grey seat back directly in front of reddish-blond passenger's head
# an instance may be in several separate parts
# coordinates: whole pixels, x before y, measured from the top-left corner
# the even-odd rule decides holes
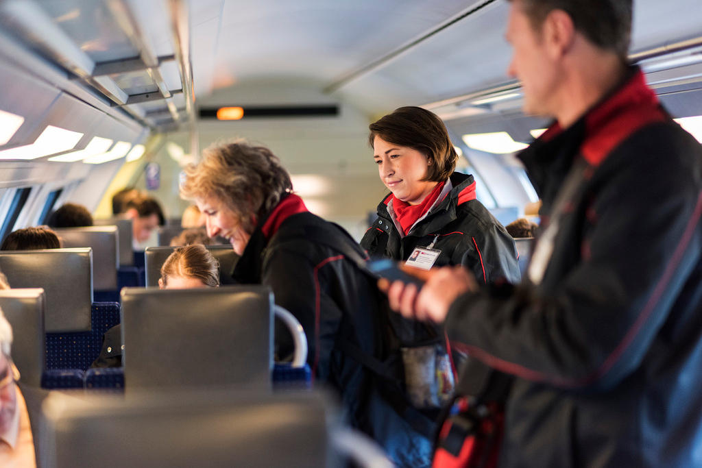
[[[124,288],[121,303],[128,392],[147,387],[270,388],[270,288]]]

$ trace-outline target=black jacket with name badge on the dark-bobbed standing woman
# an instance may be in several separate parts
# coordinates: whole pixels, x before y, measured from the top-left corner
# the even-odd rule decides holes
[[[406,236],[400,235],[388,212],[392,194],[386,196],[361,246],[371,257],[407,260],[416,247],[427,247],[436,239],[433,248],[441,254],[435,266],[463,265],[482,283],[501,278],[518,282],[515,241],[475,198],[473,176],[455,172],[450,180],[451,191]]]

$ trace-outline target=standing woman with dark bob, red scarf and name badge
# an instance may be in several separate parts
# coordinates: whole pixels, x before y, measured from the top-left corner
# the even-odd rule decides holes
[[[425,269],[463,265],[486,284],[518,283],[515,243],[476,199],[473,176],[453,172],[458,154],[441,119],[400,107],[369,128],[380,180],[391,192],[361,241],[369,255]]]

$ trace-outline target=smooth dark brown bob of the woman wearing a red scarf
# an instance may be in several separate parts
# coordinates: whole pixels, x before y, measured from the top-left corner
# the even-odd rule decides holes
[[[399,107],[371,123],[368,141],[373,147],[376,136],[393,145],[416,149],[427,156],[430,165],[424,180],[444,182],[453,173],[458,153],[449,132],[439,117],[421,107]]]

